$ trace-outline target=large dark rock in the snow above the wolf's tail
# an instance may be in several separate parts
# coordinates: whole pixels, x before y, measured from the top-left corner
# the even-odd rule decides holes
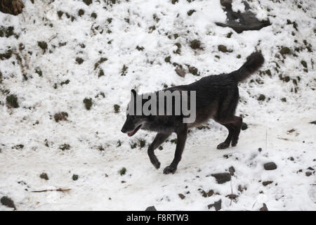
[[[221,0],[220,4],[224,6],[224,11],[228,17],[227,23],[216,23],[220,27],[230,27],[235,32],[241,33],[245,30],[261,30],[261,28],[271,25],[269,20],[258,20],[256,15],[249,11],[250,6],[246,1],[243,1],[244,13],[232,11],[231,0]]]

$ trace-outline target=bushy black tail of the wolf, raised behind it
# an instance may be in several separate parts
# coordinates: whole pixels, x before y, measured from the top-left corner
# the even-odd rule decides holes
[[[261,68],[261,65],[263,65],[264,61],[265,58],[263,58],[263,55],[260,51],[251,53],[251,55],[247,57],[246,63],[244,63],[244,65],[242,65],[239,70],[232,72],[232,76],[235,77],[237,81],[241,82]]]

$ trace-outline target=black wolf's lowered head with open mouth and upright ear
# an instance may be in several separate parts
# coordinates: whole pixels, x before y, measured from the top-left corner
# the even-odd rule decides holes
[[[140,101],[140,105],[143,105],[142,99],[137,97],[138,95],[136,94],[136,91],[132,89],[131,101],[129,102],[126,110],[126,121],[121,128],[121,131],[129,136],[136,134],[140,127],[142,127],[148,120],[148,117],[143,115],[143,112],[136,113],[137,101]]]

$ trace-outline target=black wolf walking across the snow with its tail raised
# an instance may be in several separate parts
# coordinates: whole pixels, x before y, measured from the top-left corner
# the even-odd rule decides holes
[[[173,86],[163,91],[196,91],[196,120],[192,123],[183,123],[183,115],[127,115],[121,131],[133,136],[139,129],[157,131],[154,141],[148,147],[148,155],[152,165],[159,169],[160,162],[154,150],[158,148],[173,132],[177,134],[176,153],[171,165],[164,169],[164,174],[176,172],[181,160],[187,130],[213,119],[228,129],[228,136],[217,148],[224,149],[237,145],[238,136],[242,127],[242,117],[235,115],[239,92],[238,82],[242,82],[264,63],[261,52],[252,53],[246,58],[246,63],[239,70],[226,75],[210,75],[187,85]],[[155,92],[157,93],[157,92]],[[131,90],[133,99],[137,94]],[[144,104],[145,101],[142,101]]]

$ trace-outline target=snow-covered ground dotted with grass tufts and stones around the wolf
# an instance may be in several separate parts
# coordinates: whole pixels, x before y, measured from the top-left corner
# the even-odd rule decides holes
[[[18,16],[0,13],[0,26],[15,33],[0,37],[0,54],[12,51],[0,60],[0,198],[18,210],[215,210],[207,206],[218,200],[221,210],[263,203],[268,210],[316,210],[315,1],[249,1],[272,25],[241,34],[215,25],[226,19],[219,0],[24,2]],[[242,11],[242,1],[233,9]],[[194,39],[202,49],[190,47]],[[231,52],[218,51],[220,44]],[[178,170],[165,175],[175,135],[156,150],[156,170],[147,157],[155,134],[120,132],[131,89],[145,93],[231,72],[255,49],[265,64],[239,84],[237,115],[248,129],[237,147],[217,150],[228,132],[210,121],[210,129],[192,129]],[[194,66],[200,76],[180,77],[172,63]],[[18,108],[6,103],[10,95]],[[56,122],[61,112],[67,120]],[[266,162],[277,169],[265,170]],[[210,176],[230,167],[231,181]],[[32,192],[57,188],[71,190]]]

